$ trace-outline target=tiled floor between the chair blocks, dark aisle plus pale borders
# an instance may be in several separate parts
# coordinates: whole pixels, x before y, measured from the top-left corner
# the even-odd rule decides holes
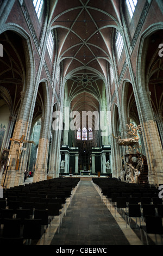
[[[105,198],[102,200],[98,187],[91,181],[79,182],[66,215],[62,218],[59,233],[58,225],[58,220],[54,219],[51,228],[47,229],[37,245],[142,245],[140,229],[136,228],[134,219],[130,228],[118,212],[115,216],[114,206],[106,204]],[[151,238],[150,243],[154,245]]]

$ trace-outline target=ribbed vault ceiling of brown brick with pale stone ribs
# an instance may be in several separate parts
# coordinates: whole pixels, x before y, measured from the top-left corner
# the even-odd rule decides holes
[[[108,81],[114,29],[119,27],[119,2],[114,0],[51,1],[58,39],[58,63],[67,81],[71,108],[99,110],[102,86]]]

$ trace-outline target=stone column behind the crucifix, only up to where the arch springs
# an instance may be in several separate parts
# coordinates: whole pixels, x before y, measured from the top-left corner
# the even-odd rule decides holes
[[[17,121],[15,124],[15,129],[12,138],[15,139],[21,139],[22,135],[24,136],[25,140],[28,140],[29,137],[29,130],[32,120],[29,119],[30,116],[30,106],[32,101],[32,90],[28,89],[26,92],[21,92],[21,105],[19,108]],[[23,148],[28,149],[29,143],[24,143]],[[20,147],[20,143],[12,141],[10,146],[10,152],[9,155],[11,155],[10,159],[10,166],[8,168],[7,176],[5,179],[5,186],[6,187],[14,187],[19,186],[23,184],[24,180],[24,170],[26,168],[25,164],[23,163],[24,157],[26,158],[28,154],[28,150],[22,151],[21,157],[20,157],[20,163],[18,170],[16,170],[16,163],[17,163],[17,157],[18,157],[18,149]],[[4,181],[5,175],[2,177],[2,185]]]

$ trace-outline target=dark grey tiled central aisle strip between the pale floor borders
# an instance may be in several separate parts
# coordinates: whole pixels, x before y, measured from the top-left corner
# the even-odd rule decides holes
[[[51,245],[129,245],[91,181],[81,181]]]

